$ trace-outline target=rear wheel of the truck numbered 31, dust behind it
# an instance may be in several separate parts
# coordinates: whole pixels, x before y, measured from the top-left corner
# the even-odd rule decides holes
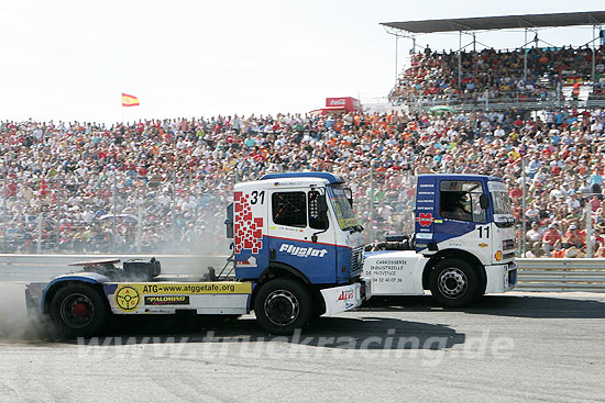
[[[109,306],[94,288],[68,284],[53,296],[51,318],[63,337],[91,337],[106,326]]]

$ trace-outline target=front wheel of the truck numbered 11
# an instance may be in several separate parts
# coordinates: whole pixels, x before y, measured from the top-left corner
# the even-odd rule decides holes
[[[432,298],[447,307],[470,304],[480,293],[477,271],[460,259],[446,259],[435,265],[429,277]]]

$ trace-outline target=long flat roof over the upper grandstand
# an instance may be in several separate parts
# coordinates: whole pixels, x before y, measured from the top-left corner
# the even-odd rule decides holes
[[[519,27],[600,25],[605,24],[605,11],[383,22],[381,24],[419,34],[451,31],[484,31]]]

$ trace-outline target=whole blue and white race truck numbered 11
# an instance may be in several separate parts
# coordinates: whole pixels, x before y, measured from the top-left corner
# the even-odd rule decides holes
[[[517,282],[516,237],[508,190],[480,175],[420,175],[415,232],[367,247],[363,277],[372,295],[420,295],[463,306]]]

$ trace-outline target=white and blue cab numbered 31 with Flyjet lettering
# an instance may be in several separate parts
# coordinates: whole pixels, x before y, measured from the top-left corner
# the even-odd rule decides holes
[[[235,186],[232,209],[237,279],[286,271],[321,288],[360,277],[363,228],[340,177],[265,175]]]

